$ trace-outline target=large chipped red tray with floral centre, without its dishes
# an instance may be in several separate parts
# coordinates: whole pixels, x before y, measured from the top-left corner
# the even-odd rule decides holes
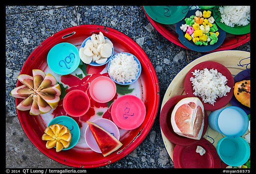
[[[147,54],[135,41],[133,41],[127,35],[124,35],[120,31],[116,31],[112,28],[105,26],[80,25],[57,32],[56,34],[44,40],[44,42],[42,42],[39,46],[36,47],[36,49],[32,52],[32,54],[30,54],[30,56],[24,63],[24,66],[20,74],[28,74],[32,76],[33,69],[40,69],[44,72],[49,71],[47,64],[47,55],[49,50],[53,46],[55,46],[58,43],[68,42],[74,44],[77,48],[80,48],[80,45],[84,41],[84,39],[86,39],[93,33],[99,33],[100,31],[104,34],[104,36],[111,39],[115,48],[115,54],[119,52],[129,52],[131,54],[134,54],[139,59],[142,66],[142,72],[140,78],[138,79],[138,84],[129,86],[130,88],[135,90],[129,90],[130,88],[122,89],[122,87],[120,86],[119,90],[123,92],[122,95],[124,95],[124,93],[130,94],[132,91],[133,93],[134,91],[137,91],[136,93],[139,93],[138,96],[141,98],[142,101],[144,101],[147,113],[144,122],[140,125],[139,128],[123,132],[123,135],[120,136],[120,142],[123,143],[123,146],[120,147],[120,149],[115,151],[114,153],[104,157],[101,153],[96,153],[92,151],[90,148],[85,148],[77,145],[72,149],[60,152],[56,152],[55,148],[47,149],[45,147],[46,141],[42,140],[41,137],[44,134],[44,129],[47,127],[47,122],[49,122],[49,120],[51,120],[51,118],[53,117],[67,115],[62,106],[63,99],[60,100],[58,106],[55,109],[53,109],[53,111],[47,113],[48,115],[42,114],[39,116],[32,116],[29,115],[29,111],[17,110],[17,115],[20,120],[20,124],[28,138],[31,140],[31,142],[42,153],[44,153],[44,155],[47,155],[49,158],[55,160],[56,162],[60,162],[67,166],[79,168],[93,168],[105,166],[124,158],[126,155],[131,153],[136,147],[138,147],[140,143],[144,140],[144,138],[148,135],[148,132],[152,128],[152,125],[156,118],[159,107],[159,83],[155,69],[152,63],[150,62]],[[79,78],[79,76],[75,76],[74,74],[61,76],[58,74],[56,75],[54,73],[53,75],[55,77],[57,76],[56,80],[60,82],[62,85],[64,85],[64,90],[66,93],[68,93],[68,91],[72,89],[82,89],[89,93],[88,85],[94,78],[98,76],[108,76],[108,73],[102,73],[104,71],[105,66],[106,65],[96,67],[87,65],[87,67],[82,67],[83,70],[86,69],[85,71],[83,71],[83,78]],[[20,81],[18,81],[17,86],[20,85],[22,84]],[[62,93],[64,90],[62,90]],[[116,99],[118,96],[121,95],[116,93],[114,99]],[[16,106],[22,100],[23,99],[16,98]],[[93,100],[91,99],[91,101]],[[80,126],[80,139],[82,139],[82,142],[85,142],[83,137],[85,126],[83,126],[83,123],[86,122],[86,120],[92,120],[93,116],[95,115],[97,118],[104,117],[111,120],[112,105],[107,106],[106,103],[100,104],[95,101],[93,102],[93,104],[94,108],[90,108],[90,110],[84,116],[72,117]],[[98,112],[95,108],[107,109],[105,112]]]

